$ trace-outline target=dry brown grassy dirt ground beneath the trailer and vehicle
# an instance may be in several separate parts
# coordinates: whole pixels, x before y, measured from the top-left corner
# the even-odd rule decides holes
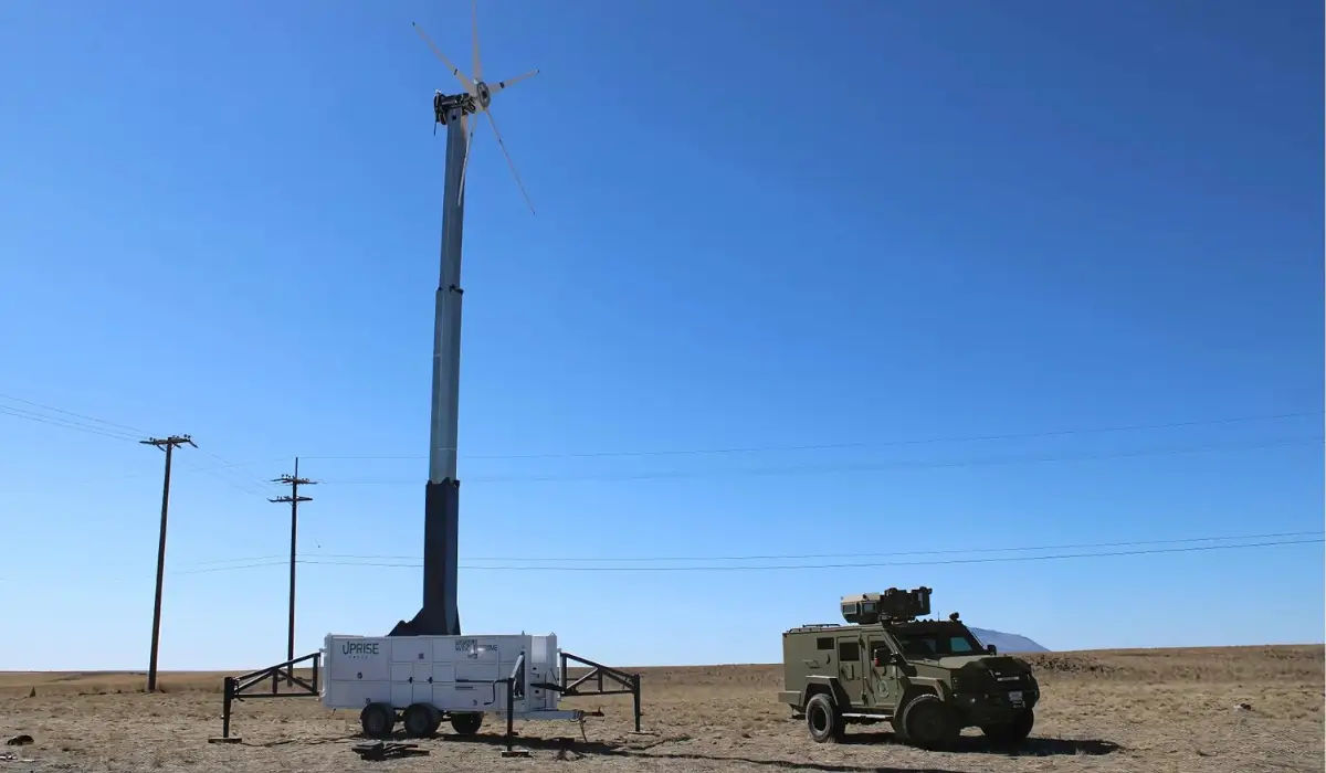
[[[485,723],[460,740],[450,725],[419,741],[427,756],[363,761],[349,746],[358,715],[316,697],[239,704],[240,744],[208,744],[221,729],[220,675],[168,674],[163,693],[143,693],[133,674],[0,672],[0,746],[11,770],[530,770],[557,765],[593,773],[631,770],[1322,770],[1323,648],[1136,650],[1026,656],[1045,697],[1032,739],[997,752],[967,731],[949,752],[894,743],[882,725],[853,728],[842,744],[814,744],[774,701],[774,666],[643,668],[643,733],[631,732],[630,697],[574,699],[606,716],[516,723],[528,758],[501,756],[501,729]],[[32,692],[36,696],[32,696]],[[1246,708],[1245,708],[1246,707]],[[574,739],[566,744],[558,737]]]

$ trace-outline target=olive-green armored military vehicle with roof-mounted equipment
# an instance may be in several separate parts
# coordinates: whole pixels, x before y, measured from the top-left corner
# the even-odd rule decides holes
[[[959,619],[930,614],[931,589],[842,597],[847,624],[806,624],[782,634],[778,700],[804,716],[817,743],[849,723],[891,723],[908,744],[937,749],[963,728],[996,744],[1032,732],[1040,684],[1020,658],[981,647]]]

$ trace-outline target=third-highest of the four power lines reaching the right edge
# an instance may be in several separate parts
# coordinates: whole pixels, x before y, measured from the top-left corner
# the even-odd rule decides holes
[[[568,557],[568,556],[467,556],[465,561],[556,561],[556,562],[662,562],[662,561],[810,561],[815,558],[888,558],[898,556],[956,556],[964,553],[1022,553],[1033,550],[1086,550],[1099,548],[1134,548],[1138,545],[1184,545],[1192,542],[1219,542],[1229,540],[1274,540],[1281,537],[1305,537],[1323,534],[1321,529],[1314,532],[1274,532],[1270,534],[1233,534],[1223,537],[1180,537],[1172,540],[1130,540],[1126,542],[1075,542],[1059,545],[1030,545],[1022,548],[961,548],[943,550],[895,550],[888,553],[800,553],[800,554],[743,554],[743,556],[627,556],[627,557]],[[192,566],[208,566],[217,564],[249,564],[281,558],[281,556],[249,556],[244,558],[220,558],[215,561],[195,561]],[[419,556],[363,556],[355,553],[320,553],[318,558],[353,558],[362,561],[420,561]],[[255,564],[261,566],[263,564]],[[221,566],[217,570],[229,569]]]

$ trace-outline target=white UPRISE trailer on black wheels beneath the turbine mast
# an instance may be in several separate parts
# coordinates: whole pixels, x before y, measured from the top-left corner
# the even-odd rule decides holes
[[[479,731],[485,713],[508,720],[581,720],[561,709],[565,658],[557,636],[351,636],[329,634],[320,697],[326,708],[358,708],[365,735]],[[579,660],[577,658],[577,660]],[[508,716],[509,711],[509,716]]]

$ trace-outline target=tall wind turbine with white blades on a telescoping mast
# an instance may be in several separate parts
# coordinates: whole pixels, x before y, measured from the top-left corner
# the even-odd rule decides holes
[[[516,163],[507,152],[507,145],[497,130],[492,114],[492,98],[513,84],[538,74],[532,70],[509,81],[488,84],[483,80],[479,58],[479,3],[472,0],[473,77],[460,72],[442,50],[434,45],[423,29],[415,32],[460,81],[459,94],[434,94],[434,133],[438,123],[447,127],[447,166],[443,184],[442,215],[442,272],[435,296],[432,338],[432,411],[428,432],[428,484],[424,488],[423,529],[423,606],[408,622],[400,621],[391,636],[460,635],[460,611],[456,605],[456,574],[460,554],[456,538],[460,524],[460,480],[456,477],[457,408],[460,404],[460,244],[464,228],[464,183],[469,166],[469,151],[475,142],[479,114],[497,137],[511,172],[520,186],[530,212],[534,206],[525,194]]]

